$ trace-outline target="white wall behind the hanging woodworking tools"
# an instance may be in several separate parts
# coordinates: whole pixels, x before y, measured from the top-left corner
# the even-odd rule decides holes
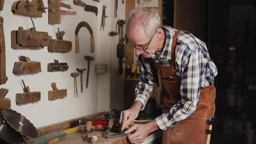
[[[4,18],[6,73],[8,77],[7,83],[0,85],[0,88],[9,89],[6,98],[11,99],[11,108],[29,119],[37,128],[89,115],[98,111],[108,111],[110,108],[111,90],[115,88],[115,94],[119,94],[119,98],[119,96],[122,97],[123,88],[123,80],[120,79],[121,77],[117,74],[117,58],[115,54],[118,37],[113,38],[108,36],[108,33],[114,30],[116,20],[118,20],[114,20],[113,10],[111,9],[114,6],[114,0],[100,0],[100,3],[92,0],[83,0],[88,5],[98,7],[97,17],[94,13],[85,12],[82,7],[75,6],[72,3],[73,0],[65,0],[62,2],[71,4],[71,6],[74,7],[74,9],[70,11],[77,11],[76,16],[61,16],[61,24],[59,25],[48,24],[48,10],[46,13],[43,13],[42,18],[33,18],[37,31],[48,32],[53,39],[56,39],[58,27],[60,30],[66,31],[64,39],[72,41],[72,51],[66,54],[49,53],[47,47],[40,50],[11,49],[11,30],[17,30],[19,26],[23,26],[24,29],[33,27],[29,17],[11,13],[11,6],[14,1],[16,0],[5,0],[3,11],[0,13],[0,16]],[[45,6],[48,7],[47,0],[43,0],[43,2]],[[106,15],[109,17],[106,18],[104,31],[100,31],[103,4],[107,7]],[[125,17],[125,4],[122,5],[121,0],[119,0],[119,6],[118,17]],[[62,10],[67,9],[62,8]],[[75,53],[75,28],[81,21],[89,23],[94,31],[94,53],[91,53],[90,34],[85,28],[79,31],[80,53]],[[76,72],[76,68],[87,69],[87,61],[84,59],[85,55],[95,57],[95,61],[91,62],[89,87],[87,89],[85,89],[87,71],[83,75],[83,93],[80,93],[80,77],[77,78],[79,97],[76,98],[74,81],[70,73]],[[13,65],[14,62],[19,61],[18,56],[27,56],[30,57],[32,61],[41,62],[42,72],[33,75],[14,75],[12,73]],[[58,59],[59,62],[67,62],[69,64],[68,71],[47,72],[47,63],[53,62],[53,59]],[[95,74],[95,64],[97,63],[106,63],[108,65],[108,72],[97,76]],[[23,92],[21,79],[24,80],[26,86],[30,86],[31,92],[41,92],[41,101],[34,104],[16,105],[16,93]],[[111,82],[113,80],[115,82]],[[52,82],[56,82],[59,89],[68,89],[66,98],[48,101],[48,91],[52,90],[50,86]],[[121,100],[122,98],[119,99]],[[122,107],[123,102],[120,103],[117,101],[117,103],[119,108]]]

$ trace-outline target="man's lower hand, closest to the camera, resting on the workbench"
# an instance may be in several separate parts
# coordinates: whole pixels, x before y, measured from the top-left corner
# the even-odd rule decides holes
[[[127,136],[128,140],[131,142],[131,144],[141,144],[146,139],[148,134],[158,129],[159,127],[156,121],[151,121],[148,124],[135,124],[127,131],[125,131],[125,133],[131,133],[135,131],[133,134],[129,134]]]

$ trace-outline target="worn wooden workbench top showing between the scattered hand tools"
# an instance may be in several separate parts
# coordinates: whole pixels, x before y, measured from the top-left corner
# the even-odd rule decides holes
[[[103,137],[104,131],[98,131],[97,133],[99,137],[94,144],[130,144],[126,136],[107,139]],[[84,134],[85,133],[83,131],[83,128],[81,128],[79,131],[73,132],[71,134],[68,134],[66,137],[61,138],[55,144],[89,144],[90,141],[83,141]],[[89,134],[89,140],[93,134],[94,133]],[[109,134],[111,135],[116,133],[109,132]],[[161,131],[155,131],[154,133],[148,135],[148,137],[146,138],[143,144],[148,144],[160,136],[161,136]]]

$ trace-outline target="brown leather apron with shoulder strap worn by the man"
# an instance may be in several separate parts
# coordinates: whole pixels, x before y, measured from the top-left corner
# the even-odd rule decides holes
[[[172,40],[171,46],[171,66],[159,65],[154,62],[158,74],[161,77],[163,93],[163,112],[169,111],[173,105],[181,100],[180,87],[181,77],[176,75],[175,70],[175,43],[177,31]],[[163,77],[171,76],[173,81],[166,81]],[[206,144],[207,134],[205,130],[209,128],[206,124],[208,117],[213,117],[215,106],[216,91],[214,85],[201,88],[199,104],[190,118],[187,118],[174,126],[163,131],[163,144]]]

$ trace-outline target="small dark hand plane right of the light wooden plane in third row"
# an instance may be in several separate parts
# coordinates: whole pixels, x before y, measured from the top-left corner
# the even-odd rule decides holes
[[[66,62],[59,63],[58,60],[54,59],[53,63],[48,63],[48,72],[65,72],[69,69],[69,65]]]

